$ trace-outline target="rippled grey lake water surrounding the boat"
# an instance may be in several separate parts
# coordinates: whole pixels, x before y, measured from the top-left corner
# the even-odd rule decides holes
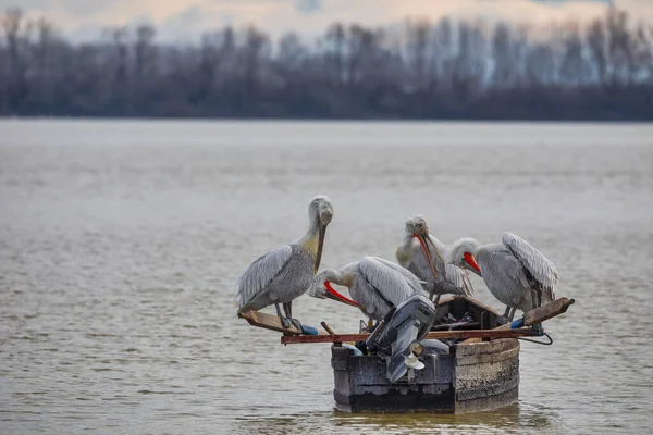
[[[328,195],[322,266],[394,259],[404,221],[514,232],[577,303],[522,343],[519,403],[334,411],[329,345],[236,319],[236,276]],[[0,433],[646,433],[653,402],[653,126],[0,122]],[[477,297],[503,311],[480,278]],[[356,309],[294,314],[357,331]],[[273,309],[266,311],[273,312]]]

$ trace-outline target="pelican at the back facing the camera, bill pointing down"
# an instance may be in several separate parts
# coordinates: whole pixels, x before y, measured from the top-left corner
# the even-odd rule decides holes
[[[419,243],[418,243],[419,241]],[[444,294],[471,296],[473,287],[469,272],[444,261],[446,245],[429,233],[427,221],[419,214],[406,221],[406,233],[396,251],[401,265],[427,282],[430,297],[438,295],[435,306]]]

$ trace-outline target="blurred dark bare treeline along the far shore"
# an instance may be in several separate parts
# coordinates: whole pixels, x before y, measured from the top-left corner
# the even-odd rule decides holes
[[[278,41],[224,27],[195,44],[149,25],[71,42],[2,17],[0,115],[653,120],[653,26],[406,21]]]

